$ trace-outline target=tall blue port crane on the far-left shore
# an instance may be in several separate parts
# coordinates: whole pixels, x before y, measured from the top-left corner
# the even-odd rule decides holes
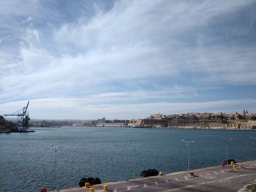
[[[27,113],[29,107],[29,101],[28,104],[26,104],[26,107],[21,108],[17,112],[14,112],[12,114],[5,114],[4,116],[16,116],[17,117],[17,126],[18,128],[22,128],[23,131],[26,131],[29,129],[29,113]]]

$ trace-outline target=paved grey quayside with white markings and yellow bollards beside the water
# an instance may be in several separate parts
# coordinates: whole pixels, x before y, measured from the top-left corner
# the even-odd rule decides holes
[[[188,172],[175,172],[164,176],[146,177],[135,179],[135,185],[139,188],[132,188],[133,180],[104,183],[94,185],[94,191],[103,191],[102,186],[108,185],[108,191],[239,191],[244,185],[256,180],[256,161],[242,163],[242,169],[229,169],[220,166],[195,169],[195,177],[188,177]],[[59,192],[85,192],[89,188],[69,188]]]

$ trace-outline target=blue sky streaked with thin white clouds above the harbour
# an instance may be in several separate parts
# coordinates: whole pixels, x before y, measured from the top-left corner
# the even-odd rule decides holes
[[[256,112],[256,1],[0,1],[0,115]]]

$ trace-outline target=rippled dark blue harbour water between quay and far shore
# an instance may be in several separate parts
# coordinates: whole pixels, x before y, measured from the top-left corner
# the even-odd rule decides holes
[[[33,128],[32,128],[33,129]],[[228,153],[236,161],[256,159],[256,131],[215,131],[148,128],[34,128],[35,133],[0,134],[0,191],[53,189],[54,148],[56,188],[77,187],[82,177],[102,182],[132,178],[133,150],[129,142],[140,142],[136,177],[143,169],[177,172],[187,168],[187,146],[191,145],[191,168],[222,164],[223,138],[230,138]]]

